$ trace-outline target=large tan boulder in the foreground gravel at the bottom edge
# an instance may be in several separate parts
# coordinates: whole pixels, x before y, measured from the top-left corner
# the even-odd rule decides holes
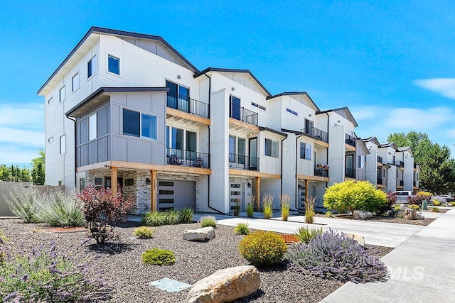
[[[259,270],[252,265],[225,268],[196,282],[186,302],[231,302],[255,293],[260,285]]]

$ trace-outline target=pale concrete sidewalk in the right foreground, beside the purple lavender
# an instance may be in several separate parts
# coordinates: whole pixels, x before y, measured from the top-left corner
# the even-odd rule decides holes
[[[321,302],[455,302],[455,209],[382,258],[387,282],[348,282]]]

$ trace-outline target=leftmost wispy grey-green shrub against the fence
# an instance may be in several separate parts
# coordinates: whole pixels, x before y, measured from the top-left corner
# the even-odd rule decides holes
[[[25,223],[37,222],[36,214],[38,213],[37,199],[41,195],[33,187],[15,186],[7,198],[9,209],[21,218]]]

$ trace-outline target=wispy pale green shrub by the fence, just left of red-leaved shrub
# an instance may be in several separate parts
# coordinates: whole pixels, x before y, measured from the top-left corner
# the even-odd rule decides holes
[[[74,194],[56,190],[41,194],[37,199],[37,221],[50,226],[84,226],[82,209],[77,205]]]

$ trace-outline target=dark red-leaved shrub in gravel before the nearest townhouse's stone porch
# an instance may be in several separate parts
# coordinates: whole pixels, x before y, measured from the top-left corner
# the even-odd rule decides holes
[[[122,190],[117,189],[117,197],[114,197],[110,188],[102,187],[86,187],[77,198],[84,212],[86,228],[97,244],[104,243],[114,227],[125,221],[124,215],[134,204],[132,197],[123,199]]]

